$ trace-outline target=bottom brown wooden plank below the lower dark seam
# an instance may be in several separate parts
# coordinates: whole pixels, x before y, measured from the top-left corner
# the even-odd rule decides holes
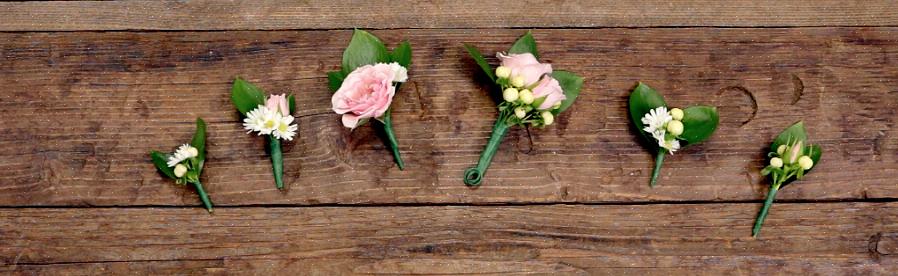
[[[887,274],[898,203],[0,210],[0,271]]]

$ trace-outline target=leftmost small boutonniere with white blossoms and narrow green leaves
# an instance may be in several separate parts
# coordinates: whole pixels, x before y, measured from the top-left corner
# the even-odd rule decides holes
[[[212,201],[200,183],[203,163],[206,161],[206,123],[203,119],[196,119],[196,133],[193,134],[190,144],[181,145],[173,153],[151,151],[150,158],[153,159],[156,168],[168,178],[174,179],[176,184],[193,184],[206,210],[212,213]]]

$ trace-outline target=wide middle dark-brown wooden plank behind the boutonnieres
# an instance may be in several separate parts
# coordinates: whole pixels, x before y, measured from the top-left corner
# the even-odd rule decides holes
[[[460,177],[495,109],[460,45],[500,51],[522,31],[375,33],[414,45],[393,113],[405,171],[370,128],[351,132],[330,110],[324,72],[350,31],[0,34],[0,205],[197,204],[147,156],[187,141],[195,116],[209,123],[204,183],[219,205],[758,200],[762,149],[800,119],[825,153],[780,199],[898,197],[898,28],[539,30],[544,58],[585,76],[584,91],[556,125],[513,130],[478,189]],[[263,139],[240,128],[235,75],[299,95],[286,193]],[[722,116],[709,142],[668,158],[655,189],[626,115],[638,80]]]

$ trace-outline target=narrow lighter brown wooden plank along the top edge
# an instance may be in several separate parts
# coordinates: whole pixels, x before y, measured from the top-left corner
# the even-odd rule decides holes
[[[896,1],[33,1],[0,31],[896,26]]]

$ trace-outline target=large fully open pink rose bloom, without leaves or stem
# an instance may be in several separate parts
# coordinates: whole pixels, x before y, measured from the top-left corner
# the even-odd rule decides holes
[[[365,65],[349,73],[331,98],[334,112],[343,114],[343,126],[355,128],[361,119],[383,116],[396,94],[396,74],[384,63]]]

